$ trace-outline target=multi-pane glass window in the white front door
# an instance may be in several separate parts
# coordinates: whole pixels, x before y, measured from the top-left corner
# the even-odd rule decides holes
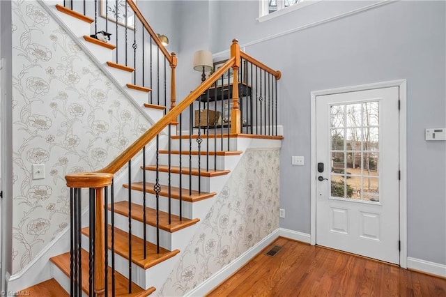
[[[379,102],[332,105],[330,110],[330,197],[380,201]]]

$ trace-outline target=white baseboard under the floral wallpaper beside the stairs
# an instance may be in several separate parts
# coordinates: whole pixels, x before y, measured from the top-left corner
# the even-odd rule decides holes
[[[254,245],[252,248],[249,248],[249,250],[247,250],[243,254],[240,254],[237,259],[235,259],[230,264],[220,269],[220,271],[215,273],[213,276],[209,277],[207,280],[199,284],[198,287],[187,292],[185,296],[205,296],[210,290],[217,287],[218,284],[220,284],[221,282],[226,280],[226,278],[238,271],[238,269],[240,269],[243,265],[247,264],[247,262],[251,260],[256,254],[259,254],[261,250],[275,241],[277,237],[279,237],[279,229],[272,231],[270,235],[263,238],[261,241],[259,241],[259,243]]]

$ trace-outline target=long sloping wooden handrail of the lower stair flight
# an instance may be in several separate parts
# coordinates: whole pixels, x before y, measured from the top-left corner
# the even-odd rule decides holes
[[[210,86],[212,86],[217,79],[219,79],[224,73],[229,70],[235,63],[235,58],[231,58],[224,65],[218,68],[215,73],[210,75],[202,84],[200,84],[197,89],[194,89],[186,98],[178,103],[176,107],[172,108],[165,116],[163,116],[160,121],[157,121],[150,129],[148,129],[141,137],[139,137],[133,144],[131,144],[125,151],[123,151],[118,157],[115,158],[109,165],[103,169],[98,170],[98,173],[110,173],[115,174],[121,167],[128,163],[134,155],[139,153],[139,151],[144,148],[152,139],[156,137],[164,128],[169,125],[172,121],[176,120],[176,117],[180,115],[189,105],[194,102],[199,96],[204,93]]]

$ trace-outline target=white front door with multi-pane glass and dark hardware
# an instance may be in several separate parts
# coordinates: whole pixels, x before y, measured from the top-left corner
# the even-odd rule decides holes
[[[316,244],[399,264],[399,89],[316,97]]]

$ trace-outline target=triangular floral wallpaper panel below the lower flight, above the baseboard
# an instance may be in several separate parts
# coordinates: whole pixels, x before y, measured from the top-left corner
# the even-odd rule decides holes
[[[279,150],[246,151],[157,296],[183,296],[279,227]]]

